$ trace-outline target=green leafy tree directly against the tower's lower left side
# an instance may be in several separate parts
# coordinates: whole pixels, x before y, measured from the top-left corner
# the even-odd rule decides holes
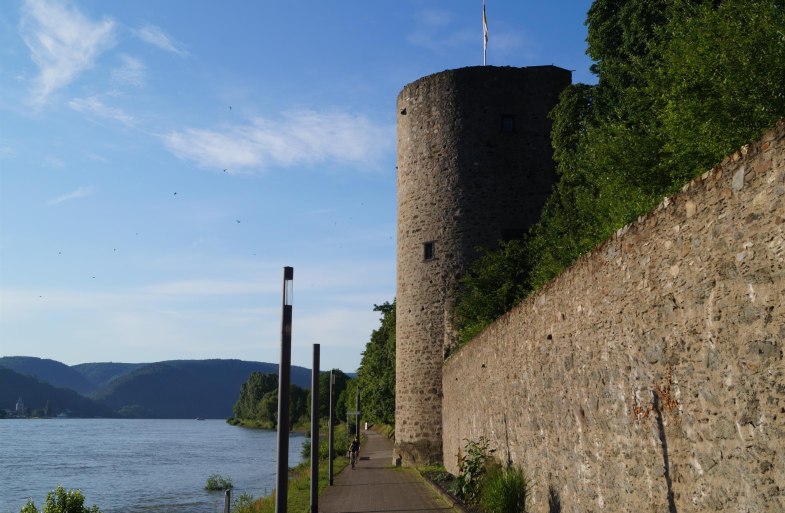
[[[395,423],[395,301],[374,305],[381,314],[380,326],[371,333],[365,345],[357,382],[362,396],[361,410],[365,420],[383,424]],[[351,401],[354,396],[347,400]],[[354,409],[352,405],[351,410]]]

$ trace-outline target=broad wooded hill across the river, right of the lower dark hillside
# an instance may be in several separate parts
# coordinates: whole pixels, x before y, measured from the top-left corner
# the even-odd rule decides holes
[[[278,365],[241,360],[172,360],[132,370],[93,395],[121,414],[143,418],[228,418],[251,372]],[[310,388],[311,371],[292,367],[292,384]]]

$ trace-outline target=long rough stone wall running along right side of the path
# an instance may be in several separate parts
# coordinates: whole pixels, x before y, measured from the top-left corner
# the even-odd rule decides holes
[[[445,465],[485,436],[535,512],[785,511],[785,123],[450,357]]]

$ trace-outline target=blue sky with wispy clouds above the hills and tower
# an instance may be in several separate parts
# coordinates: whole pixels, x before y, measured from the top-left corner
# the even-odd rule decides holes
[[[591,2],[487,1],[488,64],[593,82]],[[482,64],[481,0],[0,10],[0,355],[354,371],[395,295],[395,101]]]

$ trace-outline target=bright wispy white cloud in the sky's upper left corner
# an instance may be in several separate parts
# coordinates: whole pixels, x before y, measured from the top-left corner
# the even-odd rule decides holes
[[[20,32],[38,66],[31,101],[49,96],[93,66],[114,45],[114,22],[87,19],[66,1],[25,0]]]

